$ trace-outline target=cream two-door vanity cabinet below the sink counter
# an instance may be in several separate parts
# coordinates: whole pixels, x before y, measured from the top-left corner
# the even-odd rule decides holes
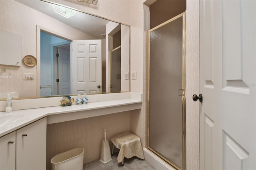
[[[0,138],[1,170],[46,170],[46,123],[45,117]]]

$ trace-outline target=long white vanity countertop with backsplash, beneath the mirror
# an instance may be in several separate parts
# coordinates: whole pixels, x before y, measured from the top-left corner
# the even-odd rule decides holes
[[[14,110],[11,113],[0,112],[0,137],[43,117],[47,117],[47,124],[51,124],[141,109],[142,105],[142,95],[139,93],[112,93],[88,95],[87,97],[89,103],[86,105],[74,105],[73,103],[72,106],[66,107],[44,106],[34,109]],[[54,98],[48,100],[58,100],[57,103],[60,103],[61,98],[62,97],[58,97],[59,100]],[[76,99],[76,97],[74,97],[74,99]],[[13,102],[13,105],[15,104],[21,105],[21,108],[24,107],[24,101]]]

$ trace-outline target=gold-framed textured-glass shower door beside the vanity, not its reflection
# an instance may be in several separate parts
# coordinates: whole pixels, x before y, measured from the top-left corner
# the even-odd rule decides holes
[[[147,148],[186,167],[185,12],[147,34]]]

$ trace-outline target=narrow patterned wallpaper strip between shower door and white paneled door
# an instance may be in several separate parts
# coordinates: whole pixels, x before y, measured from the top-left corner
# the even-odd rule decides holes
[[[199,170],[199,0],[187,0],[186,10],[186,163]]]

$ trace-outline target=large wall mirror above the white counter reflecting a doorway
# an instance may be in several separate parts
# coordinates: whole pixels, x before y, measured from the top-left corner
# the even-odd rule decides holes
[[[0,1],[0,16],[1,34],[22,39],[19,65],[0,60],[0,100],[130,91],[129,26],[43,0]]]

